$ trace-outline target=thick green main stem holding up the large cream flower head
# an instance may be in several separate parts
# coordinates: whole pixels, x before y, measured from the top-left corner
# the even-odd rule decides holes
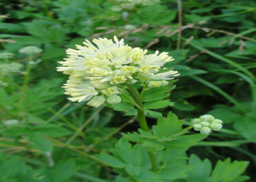
[[[124,83],[123,85],[127,87],[126,90],[128,91],[128,93],[135,100],[136,104],[138,104],[140,106],[140,108],[137,107],[137,110],[138,110],[137,118],[139,120],[140,127],[142,128],[142,130],[148,132],[146,116],[144,114],[143,104],[142,104],[142,100],[141,100],[140,96],[135,92],[135,90],[132,88],[132,86],[129,85],[128,83]],[[148,155],[149,155],[150,161],[151,161],[151,170],[154,173],[156,173],[157,172],[157,156],[153,152],[148,152]]]

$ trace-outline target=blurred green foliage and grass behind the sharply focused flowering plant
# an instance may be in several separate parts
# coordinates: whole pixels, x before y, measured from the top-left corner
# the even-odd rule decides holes
[[[155,111],[172,111],[185,124],[206,113],[223,120],[223,129],[188,154],[213,164],[227,157],[250,161],[245,174],[256,181],[256,1],[162,0],[113,11],[115,2],[1,0],[1,15],[9,15],[0,19],[0,51],[15,56],[0,66],[24,67],[1,76],[8,86],[0,88],[0,181],[114,180],[116,174],[92,155],[109,152],[119,133],[135,131],[138,122],[118,108],[70,103],[61,88],[67,75],[55,69],[67,48],[114,35],[175,58],[167,65],[181,74],[169,96],[175,105]],[[18,52],[25,46],[43,50],[33,64]],[[147,116],[155,124],[158,116]]]

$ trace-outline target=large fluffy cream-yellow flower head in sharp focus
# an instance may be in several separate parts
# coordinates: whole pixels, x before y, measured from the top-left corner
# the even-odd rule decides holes
[[[76,45],[78,50],[68,49],[69,58],[59,62],[63,71],[70,75],[64,88],[65,94],[71,95],[71,101],[90,100],[87,104],[99,107],[103,103],[116,104],[121,102],[120,94],[124,87],[121,83],[135,83],[136,81],[148,84],[148,87],[160,87],[168,84],[166,80],[177,76],[177,71],[157,73],[161,67],[174,59],[167,52],[158,55],[146,55],[147,50],[124,45],[114,36],[112,39],[93,39],[95,47],[89,40],[85,46]]]

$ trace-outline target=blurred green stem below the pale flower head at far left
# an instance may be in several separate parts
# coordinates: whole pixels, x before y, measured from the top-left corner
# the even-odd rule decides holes
[[[29,55],[29,64],[27,64],[26,75],[25,75],[25,79],[22,87],[22,94],[19,100],[19,106],[18,106],[19,112],[22,110],[22,105],[26,97],[27,84],[29,83],[29,73],[32,67],[32,64],[30,64],[30,62],[33,62],[33,55]]]

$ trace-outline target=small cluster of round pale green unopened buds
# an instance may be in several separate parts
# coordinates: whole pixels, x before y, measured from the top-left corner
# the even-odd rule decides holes
[[[213,131],[217,131],[222,128],[222,120],[215,119],[212,115],[203,115],[199,118],[191,119],[193,128],[200,133],[207,135]]]

